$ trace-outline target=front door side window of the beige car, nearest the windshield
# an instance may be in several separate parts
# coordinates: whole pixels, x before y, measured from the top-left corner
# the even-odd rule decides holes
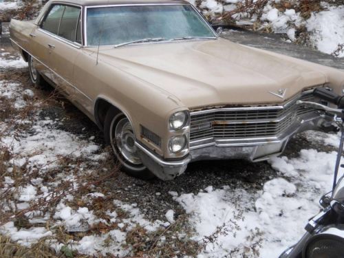
[[[58,30],[58,36],[69,41],[76,41],[76,31],[78,27],[78,21],[80,17],[80,8],[73,6],[66,6],[65,12],[60,23],[60,29]]]

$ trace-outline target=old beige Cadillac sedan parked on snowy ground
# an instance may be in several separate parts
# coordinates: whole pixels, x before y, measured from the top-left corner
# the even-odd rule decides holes
[[[295,133],[327,127],[297,100],[344,86],[344,72],[219,38],[180,0],[53,0],[12,20],[10,36],[32,83],[58,87],[144,179],[278,155]]]

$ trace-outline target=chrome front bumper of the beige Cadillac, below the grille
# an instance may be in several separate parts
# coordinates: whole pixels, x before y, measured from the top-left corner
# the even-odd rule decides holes
[[[278,136],[271,138],[251,138],[245,140],[214,140],[208,144],[190,148],[190,153],[182,160],[164,160],[139,142],[136,142],[140,158],[145,166],[162,180],[173,180],[186,170],[189,162],[197,160],[245,159],[252,162],[268,160],[283,153],[288,140],[296,133],[307,130],[323,131],[328,122],[314,112],[296,120],[292,126]]]

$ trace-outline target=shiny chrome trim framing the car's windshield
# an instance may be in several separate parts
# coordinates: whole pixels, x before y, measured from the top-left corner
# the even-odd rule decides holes
[[[99,6],[85,6],[84,7],[84,10],[83,10],[84,11],[84,19],[83,19],[84,33],[83,33],[83,35],[84,35],[84,46],[85,47],[98,47],[98,45],[87,45],[87,9],[89,9],[89,8],[104,8],[104,7],[118,7],[118,6],[191,6],[191,8],[193,8],[193,10],[195,10],[195,12],[197,13],[198,17],[200,17],[200,19],[202,21],[204,21],[204,23],[206,23],[206,25],[211,30],[211,32],[213,32],[214,39],[218,38],[218,35],[215,32],[215,30],[213,29],[213,27],[211,27],[211,24],[208,21],[206,21],[206,19],[200,14],[200,12],[191,3],[126,3],[126,4],[99,5]],[[160,41],[160,43],[162,43],[162,42],[166,42],[166,41]],[[167,42],[169,42],[169,41],[167,41]],[[109,46],[112,46],[112,45],[100,45],[100,47],[109,47]]]

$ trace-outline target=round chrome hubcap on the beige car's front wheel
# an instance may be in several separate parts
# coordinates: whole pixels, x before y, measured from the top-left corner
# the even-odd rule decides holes
[[[115,119],[114,119],[115,120]],[[114,123],[114,122],[113,122]],[[122,118],[116,125],[116,128],[113,130],[113,125],[111,125],[111,145],[112,148],[116,151],[116,147],[120,154],[134,165],[142,165],[141,159],[138,155],[136,145],[135,145],[135,136],[133,134],[133,128],[127,118]],[[112,135],[114,133],[114,135]],[[114,146],[116,144],[116,147]],[[143,165],[142,165],[143,166]]]

